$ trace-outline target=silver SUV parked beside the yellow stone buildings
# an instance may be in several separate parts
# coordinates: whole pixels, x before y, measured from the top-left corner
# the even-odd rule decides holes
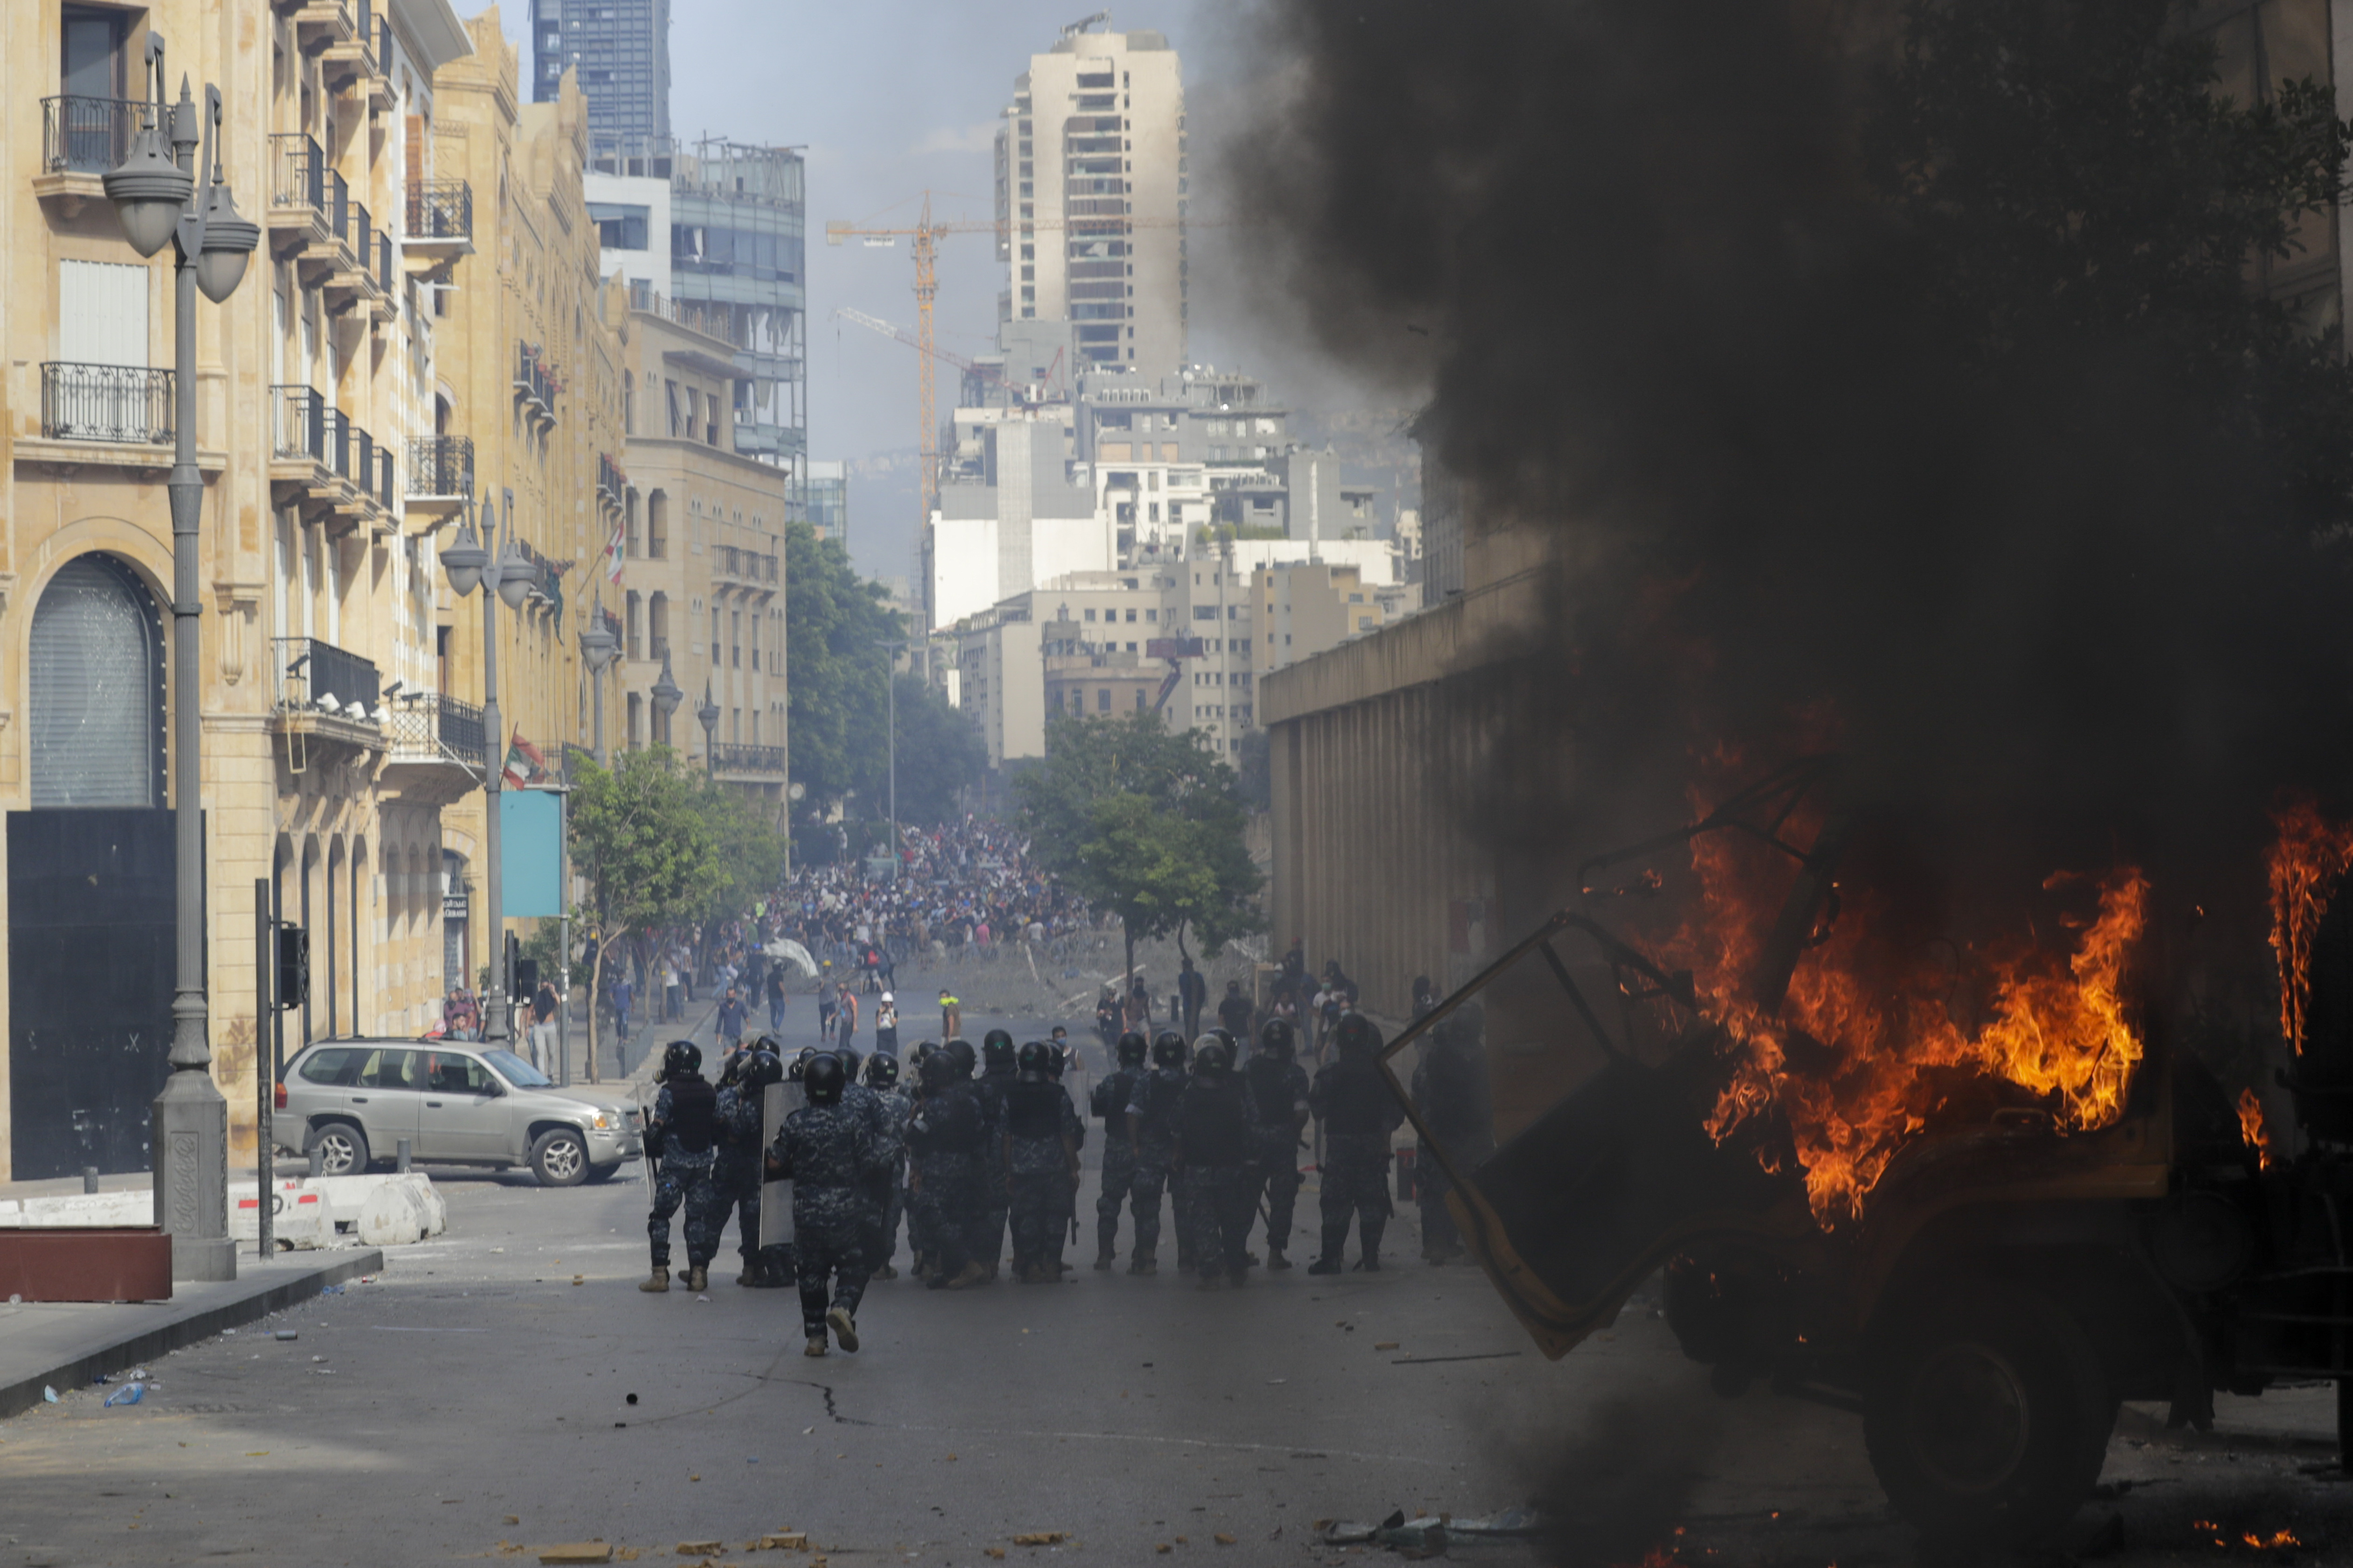
[[[322,1039],[278,1081],[275,1143],[320,1150],[327,1175],[409,1154],[438,1166],[532,1166],[548,1187],[605,1180],[640,1154],[612,1091],[558,1088],[513,1051],[464,1041]]]

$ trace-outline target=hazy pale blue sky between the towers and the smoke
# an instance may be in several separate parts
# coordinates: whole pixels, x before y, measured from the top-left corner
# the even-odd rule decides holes
[[[1202,108],[1235,73],[1235,0],[1155,0],[1113,9],[1120,31],[1153,28],[1184,54],[1193,120],[1193,188],[1202,190]],[[529,0],[499,0],[529,73]],[[826,219],[913,221],[929,188],[934,216],[993,216],[993,136],[1028,56],[1054,45],[1087,0],[673,0],[671,129],[805,146],[809,160],[809,451],[866,458],[915,449],[915,350],[833,320],[840,306],[915,324],[915,263],[894,249],[828,247]],[[988,235],[941,244],[939,341],[981,353],[995,341],[1000,273]],[[1264,339],[1221,308],[1217,266],[1195,244],[1193,357],[1228,362],[1247,343],[1271,371]],[[1304,374],[1287,378],[1299,395]],[[941,376],[953,397],[955,374]],[[852,489],[852,555],[875,576],[911,571],[913,475],[904,487]]]

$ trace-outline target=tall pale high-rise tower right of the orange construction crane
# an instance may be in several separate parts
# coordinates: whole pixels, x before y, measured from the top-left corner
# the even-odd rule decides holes
[[[998,320],[1068,322],[1080,369],[1158,381],[1186,362],[1184,71],[1160,33],[1089,24],[1031,56],[998,127]]]

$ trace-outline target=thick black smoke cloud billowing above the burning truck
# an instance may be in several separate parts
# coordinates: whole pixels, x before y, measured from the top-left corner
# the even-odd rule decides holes
[[[1261,0],[1249,26],[1266,110],[1226,176],[1280,313],[1426,390],[1485,527],[1553,545],[1544,625],[1482,651],[1511,722],[1464,802],[1515,856],[1657,830],[1718,745],[1842,750],[1939,898],[2137,860],[2254,907],[2278,797],[2346,804],[2337,470],[2292,470],[2292,400],[2193,386],[2165,329],[2035,301],[1988,327],[1885,179],[1897,7]],[[2106,110],[2082,146],[2066,113],[1984,158],[2127,183],[2089,146]]]

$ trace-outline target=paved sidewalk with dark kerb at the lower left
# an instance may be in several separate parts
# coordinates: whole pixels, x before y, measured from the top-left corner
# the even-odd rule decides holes
[[[376,1248],[282,1253],[275,1262],[240,1253],[235,1279],[174,1284],[167,1302],[0,1302],[0,1420],[38,1406],[42,1387],[85,1387],[379,1272]]]

